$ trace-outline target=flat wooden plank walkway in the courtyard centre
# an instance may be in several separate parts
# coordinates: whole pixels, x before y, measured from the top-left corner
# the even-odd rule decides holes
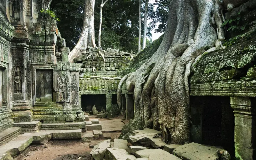
[[[102,126],[102,132],[120,132],[124,126],[122,119],[100,121],[100,124]]]

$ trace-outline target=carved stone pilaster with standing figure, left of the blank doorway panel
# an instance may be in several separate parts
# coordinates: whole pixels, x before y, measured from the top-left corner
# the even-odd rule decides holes
[[[13,81],[13,101],[11,118],[15,123],[31,122],[33,120],[31,107],[27,97],[27,63],[28,48],[26,43],[17,43],[12,48],[12,76]]]

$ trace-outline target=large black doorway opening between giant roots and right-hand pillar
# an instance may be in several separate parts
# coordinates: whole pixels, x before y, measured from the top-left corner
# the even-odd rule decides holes
[[[235,154],[234,113],[229,97],[190,96],[191,141],[223,147]]]

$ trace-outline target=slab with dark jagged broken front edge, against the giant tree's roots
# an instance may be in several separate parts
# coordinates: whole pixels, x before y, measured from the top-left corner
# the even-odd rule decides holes
[[[145,133],[128,136],[127,139],[129,145],[143,146],[150,148],[164,148],[166,143],[158,136],[157,133]]]

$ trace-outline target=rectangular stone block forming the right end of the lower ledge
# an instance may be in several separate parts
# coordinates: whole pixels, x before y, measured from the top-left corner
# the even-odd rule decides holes
[[[59,130],[59,131],[53,131],[52,133],[52,139],[58,140],[58,139],[81,139],[82,138],[82,132],[81,129],[75,129],[75,130]]]

